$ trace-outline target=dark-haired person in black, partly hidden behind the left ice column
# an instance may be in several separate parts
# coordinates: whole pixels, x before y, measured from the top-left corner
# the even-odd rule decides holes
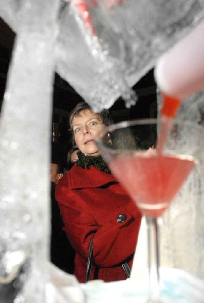
[[[55,200],[55,185],[63,176],[63,164],[61,160],[52,160],[51,163],[51,262],[63,271],[72,274],[75,252],[62,230],[63,222],[60,209]]]

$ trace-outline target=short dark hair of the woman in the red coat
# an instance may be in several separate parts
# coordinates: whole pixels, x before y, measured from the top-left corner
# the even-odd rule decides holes
[[[89,109],[91,112],[93,112],[91,106],[89,104],[87,104],[84,101],[79,102],[75,108],[71,111],[70,115],[69,115],[69,125],[70,125],[70,130],[72,132],[72,144],[75,145],[75,141],[74,141],[74,132],[72,129],[72,121],[73,118],[76,116],[80,115],[80,112],[85,111],[86,109]],[[97,113],[99,115],[99,117],[101,118],[102,122],[106,125],[109,126],[111,124],[113,124],[113,119],[111,114],[109,113],[108,109],[103,109],[102,112]]]

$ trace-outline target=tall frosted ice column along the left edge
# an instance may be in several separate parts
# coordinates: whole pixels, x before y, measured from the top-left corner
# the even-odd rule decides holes
[[[58,0],[9,1],[2,12],[18,27],[0,122],[1,303],[16,295],[18,302],[45,302],[58,7]]]

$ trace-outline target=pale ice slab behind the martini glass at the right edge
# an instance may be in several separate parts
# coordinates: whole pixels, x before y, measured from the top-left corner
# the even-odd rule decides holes
[[[203,128],[202,140],[189,138],[192,147],[199,146],[199,164],[192,171],[161,226],[161,264],[179,267],[204,279],[204,91],[183,100],[177,117],[197,122]],[[158,98],[160,103],[160,98]],[[179,142],[181,143],[181,142]],[[185,142],[183,142],[185,146]],[[190,152],[190,151],[189,151]]]

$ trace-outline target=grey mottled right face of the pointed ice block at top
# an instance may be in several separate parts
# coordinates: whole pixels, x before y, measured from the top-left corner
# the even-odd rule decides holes
[[[155,65],[156,58],[203,17],[204,8],[203,1],[195,0],[100,0],[99,3],[119,39],[123,57],[120,64],[129,85],[138,82]]]

